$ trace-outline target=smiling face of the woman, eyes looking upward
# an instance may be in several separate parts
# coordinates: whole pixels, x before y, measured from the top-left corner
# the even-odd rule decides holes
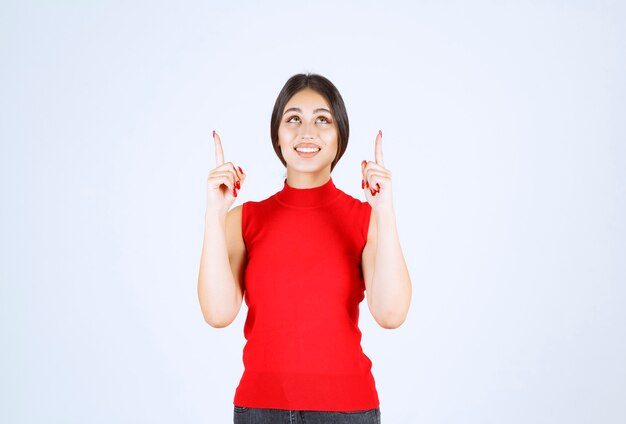
[[[289,170],[328,169],[330,174],[337,156],[337,125],[321,94],[305,88],[289,99],[278,127],[278,144]]]

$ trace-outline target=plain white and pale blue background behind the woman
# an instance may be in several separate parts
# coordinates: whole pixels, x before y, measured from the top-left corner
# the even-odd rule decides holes
[[[335,183],[384,134],[413,303],[362,304],[383,423],[626,422],[619,1],[0,5],[0,421],[228,423],[245,309],[196,285],[211,131],[282,187],[291,75],[348,108]]]

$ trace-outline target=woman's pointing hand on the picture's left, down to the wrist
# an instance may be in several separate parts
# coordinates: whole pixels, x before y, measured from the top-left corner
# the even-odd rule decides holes
[[[235,202],[237,193],[246,178],[240,167],[232,162],[224,163],[224,149],[220,136],[213,131],[215,143],[216,167],[209,171],[207,177],[207,212],[218,213],[226,217],[228,210]]]

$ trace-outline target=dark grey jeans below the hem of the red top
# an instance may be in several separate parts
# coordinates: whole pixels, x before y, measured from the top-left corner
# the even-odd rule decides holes
[[[235,406],[234,424],[380,424],[380,409],[356,412],[287,411]]]

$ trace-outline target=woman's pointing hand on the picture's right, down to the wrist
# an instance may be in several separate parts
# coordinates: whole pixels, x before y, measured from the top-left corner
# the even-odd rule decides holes
[[[375,212],[381,209],[392,209],[391,171],[383,163],[382,131],[378,131],[374,144],[374,162],[361,162],[363,180],[361,187],[365,198]]]

